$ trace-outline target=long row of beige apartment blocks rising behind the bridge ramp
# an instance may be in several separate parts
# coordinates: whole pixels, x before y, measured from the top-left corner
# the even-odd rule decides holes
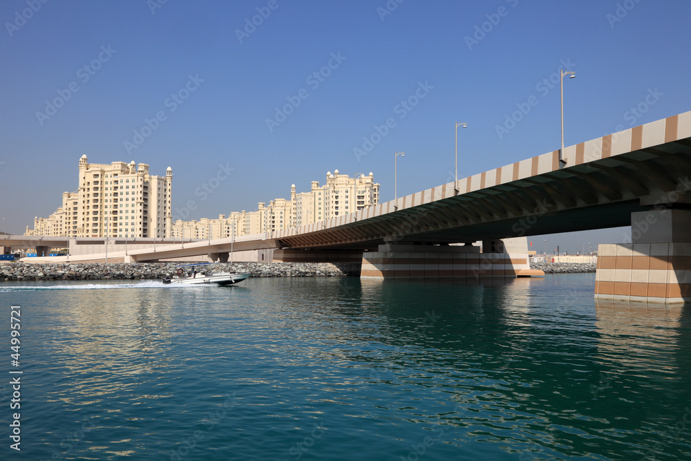
[[[374,175],[361,174],[350,178],[346,174],[326,173],[326,184],[312,181],[308,192],[296,193],[295,185],[290,186],[290,200],[276,198],[266,205],[258,203],[257,211],[234,211],[218,219],[173,223],[172,235],[175,238],[224,238],[263,234],[280,229],[288,229],[321,220],[335,218],[343,214],[359,211],[379,203],[379,183]]]

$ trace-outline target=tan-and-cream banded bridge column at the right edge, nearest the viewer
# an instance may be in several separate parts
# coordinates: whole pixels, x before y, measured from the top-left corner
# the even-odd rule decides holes
[[[691,211],[631,214],[632,243],[599,245],[596,299],[691,301]]]

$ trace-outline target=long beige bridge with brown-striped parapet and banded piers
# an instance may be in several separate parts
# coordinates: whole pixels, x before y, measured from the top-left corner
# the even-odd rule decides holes
[[[274,249],[280,261],[361,260],[364,278],[520,276],[531,274],[525,236],[632,225],[632,242],[600,245],[596,297],[691,301],[690,176],[691,111],[566,147],[561,159],[551,151],[319,223],[124,261],[223,261],[232,246]]]

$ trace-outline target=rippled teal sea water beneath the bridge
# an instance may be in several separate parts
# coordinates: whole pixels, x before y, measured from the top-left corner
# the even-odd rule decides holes
[[[27,460],[690,460],[691,307],[484,285],[0,283]]]

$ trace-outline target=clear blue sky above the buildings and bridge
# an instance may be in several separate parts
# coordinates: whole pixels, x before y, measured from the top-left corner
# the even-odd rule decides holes
[[[61,205],[83,153],[160,175],[172,167],[173,207],[194,200],[192,219],[290,198],[291,183],[305,191],[334,169],[372,171],[390,200],[395,151],[406,152],[399,196],[442,184],[453,178],[455,121],[469,125],[460,176],[553,151],[559,87],[541,82],[565,64],[578,73],[565,81],[567,145],[691,109],[688,0],[159,1],[0,3],[8,232]],[[399,105],[416,91],[416,106]],[[661,95],[633,114],[649,91]],[[533,95],[538,104],[498,133]],[[274,118],[289,98],[299,106]],[[389,117],[395,126],[356,156]],[[140,139],[145,120],[155,129]],[[234,171],[202,200],[221,164]],[[622,232],[550,236],[548,246],[576,251]]]

